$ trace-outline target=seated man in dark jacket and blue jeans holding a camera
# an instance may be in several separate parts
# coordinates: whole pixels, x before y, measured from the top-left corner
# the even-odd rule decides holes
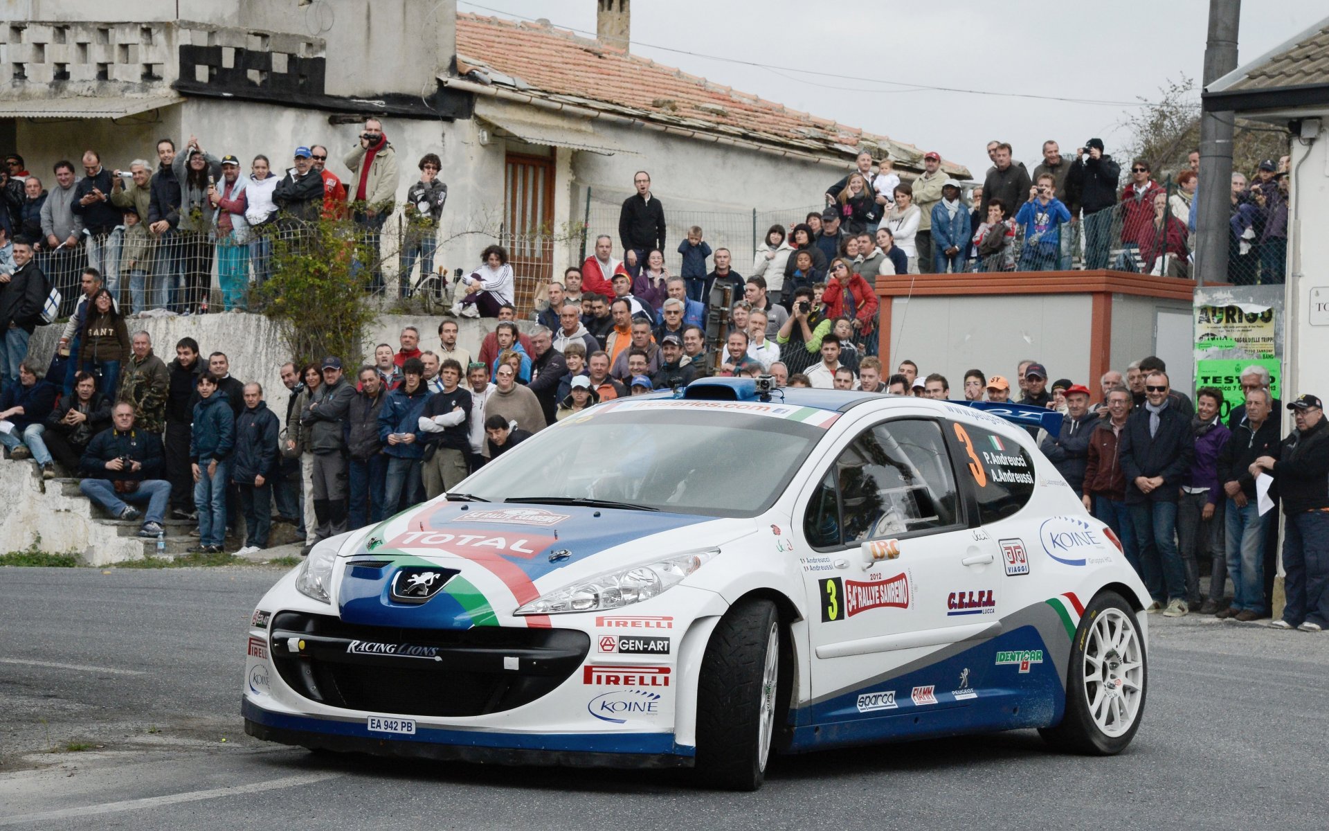
[[[154,433],[134,428],[134,406],[116,404],[110,414],[114,427],[93,436],[80,460],[88,475],[78,491],[118,520],[136,520],[133,505],[148,503],[140,537],[162,532],[170,483],[155,479],[162,467],[162,443]]]

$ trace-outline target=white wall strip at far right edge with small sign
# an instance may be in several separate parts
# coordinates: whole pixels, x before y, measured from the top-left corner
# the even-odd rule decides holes
[[[1285,402],[1304,392],[1329,396],[1329,133],[1310,146],[1293,141],[1292,169]]]

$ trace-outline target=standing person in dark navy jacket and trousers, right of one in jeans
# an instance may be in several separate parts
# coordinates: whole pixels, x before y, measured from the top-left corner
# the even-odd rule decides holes
[[[263,402],[263,387],[245,384],[245,410],[235,419],[235,453],[231,461],[231,481],[241,496],[245,515],[245,548],[241,554],[267,548],[272,529],[272,472],[279,455],[278,435],[282,425],[276,415]]]

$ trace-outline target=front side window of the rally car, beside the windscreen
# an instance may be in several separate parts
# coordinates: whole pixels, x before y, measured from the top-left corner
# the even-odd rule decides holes
[[[804,519],[819,548],[859,545],[960,521],[950,455],[936,421],[878,424],[847,447]]]

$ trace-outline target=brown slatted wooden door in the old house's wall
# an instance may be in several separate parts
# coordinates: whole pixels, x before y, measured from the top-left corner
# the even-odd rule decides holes
[[[502,245],[516,278],[516,306],[526,316],[554,274],[554,160],[508,153],[504,165]]]

